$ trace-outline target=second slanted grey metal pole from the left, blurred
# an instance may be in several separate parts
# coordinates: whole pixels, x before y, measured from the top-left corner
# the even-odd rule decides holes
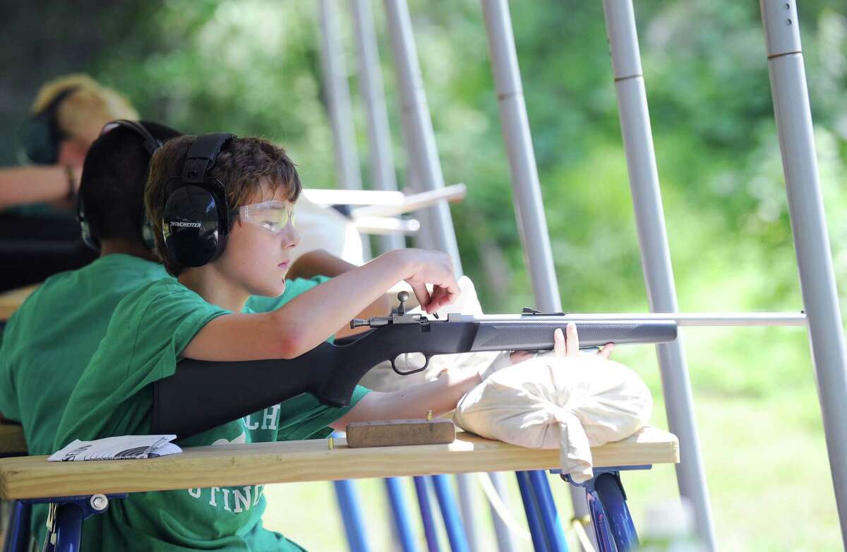
[[[374,14],[370,0],[351,0],[353,23],[356,28],[356,46],[359,53],[359,80],[365,112],[368,115],[368,142],[370,144],[371,178],[376,190],[396,190],[397,177],[391,157],[391,133],[388,112],[379,69],[379,49],[374,30]],[[401,235],[380,235],[377,239],[381,252],[402,249],[406,240]]]

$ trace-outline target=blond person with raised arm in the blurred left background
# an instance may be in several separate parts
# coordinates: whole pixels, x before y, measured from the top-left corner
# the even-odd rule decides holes
[[[19,135],[33,164],[0,168],[0,290],[97,258],[80,240],[76,194],[88,148],[114,119],[135,120],[138,113],[88,75],[65,75],[38,91]]]

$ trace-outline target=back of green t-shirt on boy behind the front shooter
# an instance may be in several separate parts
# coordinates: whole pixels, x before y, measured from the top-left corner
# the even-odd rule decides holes
[[[51,276],[9,317],[0,347],[0,412],[23,424],[30,455],[55,452],[59,417],[115,306],[166,275],[156,262],[107,255]]]

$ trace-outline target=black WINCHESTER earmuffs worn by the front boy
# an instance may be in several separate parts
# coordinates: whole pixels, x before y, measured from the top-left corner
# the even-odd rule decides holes
[[[226,188],[209,176],[231,134],[197,137],[188,148],[181,176],[166,186],[162,234],[169,257],[185,267],[202,267],[220,257],[233,219]]]

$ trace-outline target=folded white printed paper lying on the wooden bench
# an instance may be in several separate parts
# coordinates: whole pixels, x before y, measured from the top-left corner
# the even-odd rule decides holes
[[[182,452],[182,449],[170,442],[174,439],[176,435],[121,435],[95,441],[75,439],[73,443],[66,445],[64,449],[59,450],[47,460],[52,462],[136,460],[175,455]]]

